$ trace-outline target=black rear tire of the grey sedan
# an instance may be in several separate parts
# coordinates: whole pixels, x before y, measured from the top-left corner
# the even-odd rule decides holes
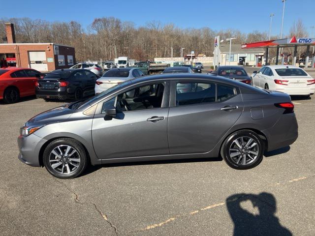
[[[252,142],[250,142],[248,147],[245,147],[250,139],[252,139]],[[243,144],[238,142],[242,148],[236,145],[236,140],[244,140]],[[254,145],[254,143],[256,143],[256,145]],[[254,145],[253,148],[249,149],[252,145]],[[221,147],[221,156],[230,167],[237,170],[247,170],[257,166],[262,161],[264,148],[264,142],[259,135],[252,130],[240,130],[225,139]],[[235,155],[237,153],[240,154]],[[257,154],[254,155],[252,153]],[[245,164],[244,155],[246,157]]]

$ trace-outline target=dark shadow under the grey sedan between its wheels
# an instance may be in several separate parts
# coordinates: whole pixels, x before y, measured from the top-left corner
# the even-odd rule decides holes
[[[89,175],[101,168],[111,168],[120,166],[144,166],[144,165],[161,165],[161,164],[175,164],[175,163],[190,163],[190,162],[213,162],[222,161],[221,157],[213,158],[196,158],[196,159],[178,159],[178,160],[160,160],[160,161],[137,161],[137,162],[120,162],[120,163],[109,163],[102,165],[89,165],[84,173],[80,176]]]

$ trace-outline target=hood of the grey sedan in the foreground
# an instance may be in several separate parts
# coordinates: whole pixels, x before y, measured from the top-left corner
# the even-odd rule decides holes
[[[71,103],[40,113],[25,123],[25,126],[46,125],[63,122],[70,118],[75,110],[69,109]]]

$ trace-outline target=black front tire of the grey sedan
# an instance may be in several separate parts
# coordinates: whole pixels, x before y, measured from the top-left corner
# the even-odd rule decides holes
[[[59,150],[65,151],[66,148],[69,146],[72,149],[69,150],[68,155],[61,155],[61,152],[57,151],[57,154],[59,154],[62,158],[58,158],[57,155],[53,153],[53,151],[56,151],[55,148],[59,148]],[[75,150],[76,152],[70,155],[70,152],[72,152],[73,150]],[[74,159],[79,159],[79,162],[74,161]],[[74,139],[60,138],[54,140],[45,148],[43,153],[43,163],[46,170],[54,177],[74,178],[80,176],[85,171],[86,167],[88,166],[88,156],[80,142]],[[53,168],[52,164],[54,163],[59,164],[59,166]],[[75,165],[77,165],[77,167],[70,163],[74,163]],[[68,172],[68,170],[69,174],[63,173]]]

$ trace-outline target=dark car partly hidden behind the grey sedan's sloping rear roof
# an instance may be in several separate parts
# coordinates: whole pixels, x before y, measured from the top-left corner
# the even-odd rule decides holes
[[[226,78],[237,80],[248,85],[252,85],[252,79],[248,76],[243,66],[237,65],[223,65],[218,66],[214,71],[208,75],[220,75]]]

